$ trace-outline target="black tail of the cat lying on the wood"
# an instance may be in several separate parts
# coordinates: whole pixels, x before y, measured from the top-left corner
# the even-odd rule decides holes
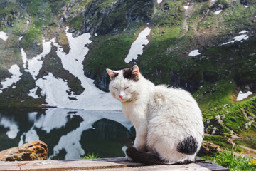
[[[134,147],[128,147],[126,153],[132,160],[136,162],[142,162],[146,165],[166,165],[164,160],[161,160],[156,155],[149,154],[147,152],[142,152]]]

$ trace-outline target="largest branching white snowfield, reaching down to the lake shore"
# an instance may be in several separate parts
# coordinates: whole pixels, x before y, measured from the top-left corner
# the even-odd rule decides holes
[[[48,103],[46,105],[87,110],[121,110],[121,104],[110,93],[99,90],[93,84],[92,79],[85,77],[82,61],[84,61],[85,55],[89,51],[85,44],[92,42],[89,40],[90,34],[85,33],[73,38],[72,33],[68,33],[68,28],[65,31],[70,45],[69,53],[63,51],[62,46],[55,42],[55,38],[49,42],[43,41],[43,55],[41,53],[41,55],[35,57],[36,60],[35,58],[32,59],[33,61],[28,60],[28,71],[36,79],[43,63],[41,58],[50,52],[50,43],[53,43],[53,46],[57,47],[57,55],[61,59],[63,68],[77,77],[85,90],[82,94],[75,95],[74,92],[70,92],[67,81],[56,78],[53,73],[48,73],[48,76],[36,80],[36,86],[42,89],[41,95],[46,95],[46,103]],[[35,65],[32,65],[34,63]],[[33,90],[31,90],[32,92]],[[76,100],[70,100],[70,98]]]

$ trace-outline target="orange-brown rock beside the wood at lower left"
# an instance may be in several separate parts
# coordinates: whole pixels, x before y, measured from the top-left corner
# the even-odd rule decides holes
[[[19,147],[9,148],[0,152],[2,161],[27,161],[27,160],[47,160],[48,147],[41,140],[28,142]]]

